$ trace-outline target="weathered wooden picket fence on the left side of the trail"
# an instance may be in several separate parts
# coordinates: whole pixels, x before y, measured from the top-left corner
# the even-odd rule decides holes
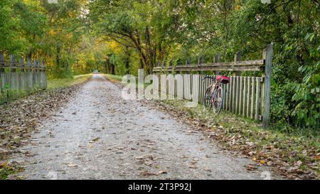
[[[0,54],[0,104],[29,95],[47,87],[46,66],[40,60],[23,58],[4,60]]]

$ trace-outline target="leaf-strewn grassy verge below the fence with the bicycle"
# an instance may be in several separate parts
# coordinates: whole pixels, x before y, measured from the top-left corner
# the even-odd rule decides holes
[[[250,157],[258,166],[272,169],[293,179],[319,179],[319,137],[306,138],[262,129],[259,124],[222,112],[215,115],[197,108],[184,107],[184,101],[159,101],[159,109],[201,127],[220,145]],[[248,170],[255,166],[247,166]]]

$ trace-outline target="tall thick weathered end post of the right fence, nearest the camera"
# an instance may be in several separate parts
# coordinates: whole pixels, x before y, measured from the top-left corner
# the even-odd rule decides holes
[[[265,72],[262,72],[264,79],[263,91],[263,112],[262,112],[262,126],[267,128],[270,123],[270,92],[271,92],[271,65],[272,65],[272,45],[267,46],[263,50],[263,59],[265,60]]]

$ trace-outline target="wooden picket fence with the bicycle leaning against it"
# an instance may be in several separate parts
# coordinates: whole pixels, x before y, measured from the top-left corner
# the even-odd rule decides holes
[[[223,85],[223,109],[228,112],[242,115],[250,119],[262,120],[262,125],[267,127],[270,123],[270,79],[272,65],[272,44],[268,45],[262,53],[262,60],[240,60],[240,52],[235,54],[235,60],[228,63],[220,63],[220,56],[215,55],[213,63],[203,63],[199,58],[198,64],[169,66],[163,64],[154,68],[154,73],[171,74],[182,76],[182,80],[176,79],[175,97],[193,100],[193,102],[203,103],[203,95],[211,80],[202,81],[205,75],[183,74],[182,72],[210,71],[215,75],[220,75],[220,71],[233,72],[230,82]],[[262,72],[262,77],[243,77],[242,71]],[[161,76],[159,76],[159,79]],[[177,82],[183,82],[183,87]],[[161,80],[160,80],[161,82]],[[182,96],[183,94],[183,96]]]

